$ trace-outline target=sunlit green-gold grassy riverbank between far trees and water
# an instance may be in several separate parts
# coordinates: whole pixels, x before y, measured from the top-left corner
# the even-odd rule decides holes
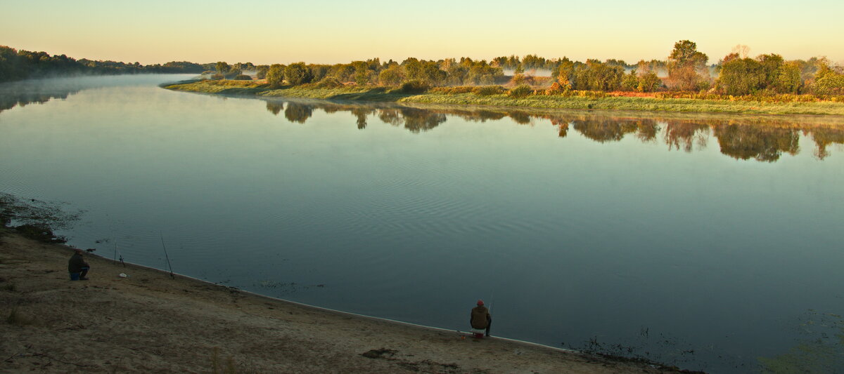
[[[769,103],[727,99],[661,99],[592,95],[529,95],[515,98],[506,93],[402,93],[385,87],[319,88],[316,85],[268,88],[260,81],[197,81],[176,83],[167,89],[196,93],[253,95],[308,99],[360,100],[420,104],[489,105],[542,109],[636,110],[688,113],[736,113],[757,115],[844,115],[844,103],[833,101]]]

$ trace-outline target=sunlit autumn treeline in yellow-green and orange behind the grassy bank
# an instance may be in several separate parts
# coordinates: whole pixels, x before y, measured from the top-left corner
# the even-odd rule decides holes
[[[722,95],[775,95],[814,93],[844,94],[844,69],[825,58],[786,61],[780,55],[750,58],[746,47],[724,56],[715,64],[697,51],[690,40],[674,44],[664,61],[623,60],[572,61],[567,57],[546,59],[536,55],[500,56],[490,61],[469,57],[438,61],[408,58],[381,61],[374,58],[347,64],[289,65],[235,64],[218,62],[212,79],[249,79],[245,70],[256,71],[258,79],[267,79],[270,87],[299,86],[312,83],[320,88],[343,85],[403,86],[404,91],[425,91],[441,86],[506,85],[521,86],[522,91],[565,93],[579,91],[695,92]],[[743,52],[744,51],[744,52]],[[248,65],[248,68],[246,68]],[[505,75],[511,70],[512,75]],[[537,71],[542,71],[541,74]],[[550,75],[550,77],[547,77]]]

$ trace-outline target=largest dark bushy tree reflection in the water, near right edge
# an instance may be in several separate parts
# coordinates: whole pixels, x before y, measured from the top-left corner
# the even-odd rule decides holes
[[[714,128],[721,152],[733,158],[755,158],[772,163],[787,152],[796,155],[800,136],[797,129],[781,127],[720,125]]]

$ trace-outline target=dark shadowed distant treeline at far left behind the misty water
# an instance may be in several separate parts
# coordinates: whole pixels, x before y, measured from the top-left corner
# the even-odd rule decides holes
[[[135,73],[201,73],[213,69],[214,64],[200,65],[187,61],[141,65],[138,62],[76,60],[65,55],[46,52],[17,51],[0,45],[0,82],[32,77],[73,74],[135,74]]]

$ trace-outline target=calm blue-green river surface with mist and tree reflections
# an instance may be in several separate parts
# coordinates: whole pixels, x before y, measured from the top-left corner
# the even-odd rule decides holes
[[[842,371],[841,122],[157,87],[182,78],[0,85],[0,192],[83,210],[75,246],[164,269],[163,237],[176,272],[272,297],[445,329],[482,298],[503,337]]]

